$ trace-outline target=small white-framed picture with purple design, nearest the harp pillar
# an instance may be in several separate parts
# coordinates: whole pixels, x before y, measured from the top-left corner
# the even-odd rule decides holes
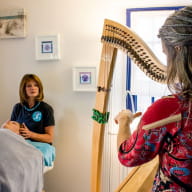
[[[74,67],[73,90],[96,91],[96,67]]]

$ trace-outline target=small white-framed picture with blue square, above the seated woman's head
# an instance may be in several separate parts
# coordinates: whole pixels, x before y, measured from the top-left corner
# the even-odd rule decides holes
[[[60,35],[39,35],[35,38],[36,60],[60,59]]]

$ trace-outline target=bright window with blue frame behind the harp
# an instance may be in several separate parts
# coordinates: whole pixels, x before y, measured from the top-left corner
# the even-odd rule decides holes
[[[180,7],[132,8],[126,10],[126,23],[135,31],[155,53],[159,60],[166,65],[166,57],[157,37],[159,28],[168,15]],[[166,85],[148,78],[133,62],[127,59],[128,92],[126,106],[132,111],[145,111],[156,99],[170,94]]]

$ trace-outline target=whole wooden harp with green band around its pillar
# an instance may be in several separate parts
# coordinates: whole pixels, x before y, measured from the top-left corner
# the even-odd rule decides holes
[[[117,50],[125,52],[125,54],[127,54],[148,77],[159,83],[166,83],[166,66],[158,60],[146,43],[128,27],[106,19],[104,21],[101,41],[103,47],[100,59],[96,102],[92,117],[94,121],[92,137],[91,192],[101,191],[104,130],[108,118],[106,107],[108,104],[109,91],[111,89],[111,80]],[[149,128],[150,126],[147,127],[147,129]],[[148,192],[152,186],[157,167],[158,158],[146,165],[133,168],[116,192]],[[137,188],[135,188],[136,186]]]

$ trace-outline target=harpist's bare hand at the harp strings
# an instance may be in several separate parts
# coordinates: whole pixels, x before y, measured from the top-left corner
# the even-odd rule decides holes
[[[141,115],[141,112],[133,114],[130,110],[122,110],[118,113],[114,120],[116,124],[119,124],[120,122],[126,122],[130,124],[136,117],[139,117]]]

